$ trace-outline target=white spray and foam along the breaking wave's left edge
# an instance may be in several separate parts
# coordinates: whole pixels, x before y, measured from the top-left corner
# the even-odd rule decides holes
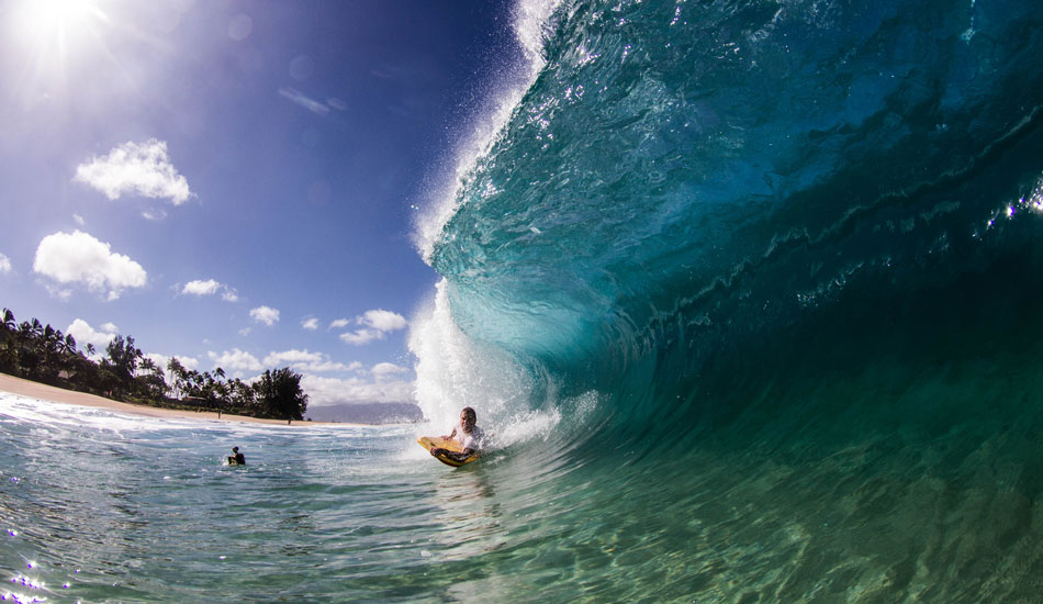
[[[446,171],[451,177],[431,188],[426,209],[418,214],[414,241],[426,261],[446,222],[462,203],[475,166],[503,135],[504,125],[543,68],[543,46],[559,4],[560,0],[515,4],[512,26],[522,49],[520,64],[501,81],[490,82],[493,92],[484,100],[487,109],[472,118],[470,133]],[[481,413],[481,424],[496,434],[497,447],[546,434],[558,421],[554,384],[539,368],[535,373],[527,371],[519,359],[460,331],[449,309],[448,287],[446,281],[436,286],[410,332],[408,347],[417,358],[415,399],[430,426],[425,429],[448,430],[458,422],[460,409],[472,406]]]

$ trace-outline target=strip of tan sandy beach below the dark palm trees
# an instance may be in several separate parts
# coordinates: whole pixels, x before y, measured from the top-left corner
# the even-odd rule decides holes
[[[221,416],[217,416],[217,413],[214,411],[182,411],[179,409],[161,409],[148,405],[135,405],[131,403],[123,403],[120,401],[113,401],[112,399],[105,399],[104,396],[99,396],[97,394],[88,394],[86,392],[76,392],[75,390],[65,390],[64,388],[56,388],[53,385],[47,385],[45,383],[34,382],[32,380],[25,380],[22,378],[15,378],[14,376],[8,376],[7,373],[0,373],[0,392],[9,392],[11,394],[16,394],[19,396],[26,396],[30,399],[37,399],[41,401],[46,401],[51,403],[63,403],[68,405],[80,405],[80,406],[90,406],[96,409],[104,409],[108,411],[114,411],[117,413],[127,413],[131,415],[139,415],[144,417],[159,417],[159,418],[178,418],[178,420],[198,420],[206,422],[239,422],[248,424],[269,424],[273,426],[287,426],[287,423],[282,420],[265,420],[260,417],[249,417],[246,415],[233,415],[231,413],[222,413]],[[293,426],[345,426],[345,427],[368,427],[368,424],[347,424],[343,422],[306,422],[306,421],[296,421],[296,423],[289,424],[289,427]]]

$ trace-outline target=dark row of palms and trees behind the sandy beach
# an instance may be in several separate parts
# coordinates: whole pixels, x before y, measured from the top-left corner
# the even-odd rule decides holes
[[[18,323],[3,309],[0,372],[59,388],[167,409],[208,410],[253,417],[302,420],[307,394],[289,367],[267,370],[254,383],[227,380],[220,367],[200,373],[176,358],[168,373],[142,353],[131,336],[115,336],[96,362],[94,347],[77,350],[76,338],[36,318]]]

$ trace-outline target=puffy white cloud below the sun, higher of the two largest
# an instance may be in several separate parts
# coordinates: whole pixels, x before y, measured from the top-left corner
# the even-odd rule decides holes
[[[72,180],[85,182],[112,200],[131,192],[169,199],[175,205],[180,205],[193,195],[188,180],[167,158],[167,143],[156,138],[142,144],[128,142],[106,156],[92,157],[76,167]]]

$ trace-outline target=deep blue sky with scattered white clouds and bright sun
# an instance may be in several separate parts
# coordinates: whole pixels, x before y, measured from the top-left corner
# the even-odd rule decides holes
[[[0,304],[313,405],[402,401],[413,243],[507,2],[0,1]]]

